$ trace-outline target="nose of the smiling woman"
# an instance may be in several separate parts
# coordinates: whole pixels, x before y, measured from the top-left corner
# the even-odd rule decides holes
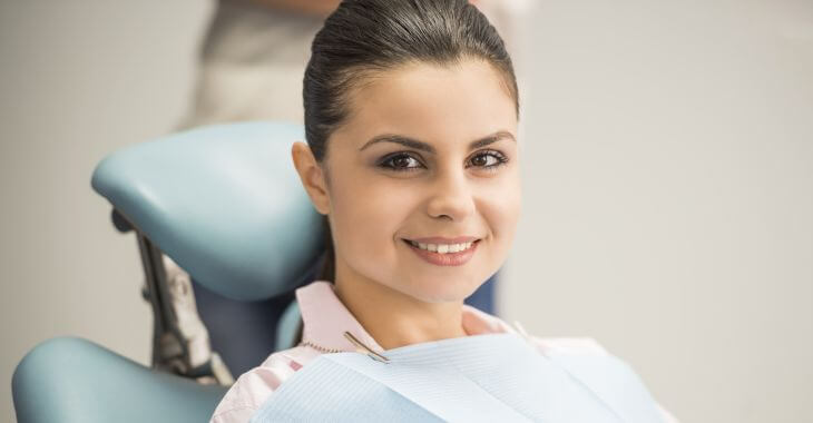
[[[470,181],[462,169],[438,173],[429,193],[427,213],[433,218],[463,222],[474,213]]]

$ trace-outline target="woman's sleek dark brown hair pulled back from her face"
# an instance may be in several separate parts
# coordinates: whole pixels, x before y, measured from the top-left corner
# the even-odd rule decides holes
[[[402,65],[452,66],[464,59],[498,71],[519,116],[511,59],[497,30],[468,0],[342,1],[313,40],[303,80],[305,138],[316,160],[324,164],[327,139],[347,119],[352,89]],[[325,234],[320,279],[333,281],[330,226]]]

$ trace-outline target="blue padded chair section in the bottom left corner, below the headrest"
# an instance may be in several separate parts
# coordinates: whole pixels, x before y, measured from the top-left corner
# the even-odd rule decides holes
[[[12,378],[25,422],[207,422],[227,388],[149,370],[89,341],[48,340]]]

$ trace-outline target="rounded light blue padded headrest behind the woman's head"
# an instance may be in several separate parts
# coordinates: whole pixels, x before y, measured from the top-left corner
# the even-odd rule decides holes
[[[295,288],[323,248],[291,146],[301,125],[203,127],[106,157],[92,187],[207,288],[255,301]]]

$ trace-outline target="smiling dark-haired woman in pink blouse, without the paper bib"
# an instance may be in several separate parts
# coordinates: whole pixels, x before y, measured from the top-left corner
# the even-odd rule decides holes
[[[292,157],[332,259],[296,292],[301,344],[241,375],[214,423],[248,421],[322,354],[518,331],[463,304],[506,260],[521,204],[519,94],[488,20],[466,0],[345,0],[303,91],[307,144]],[[608,355],[522,335],[545,355]]]

